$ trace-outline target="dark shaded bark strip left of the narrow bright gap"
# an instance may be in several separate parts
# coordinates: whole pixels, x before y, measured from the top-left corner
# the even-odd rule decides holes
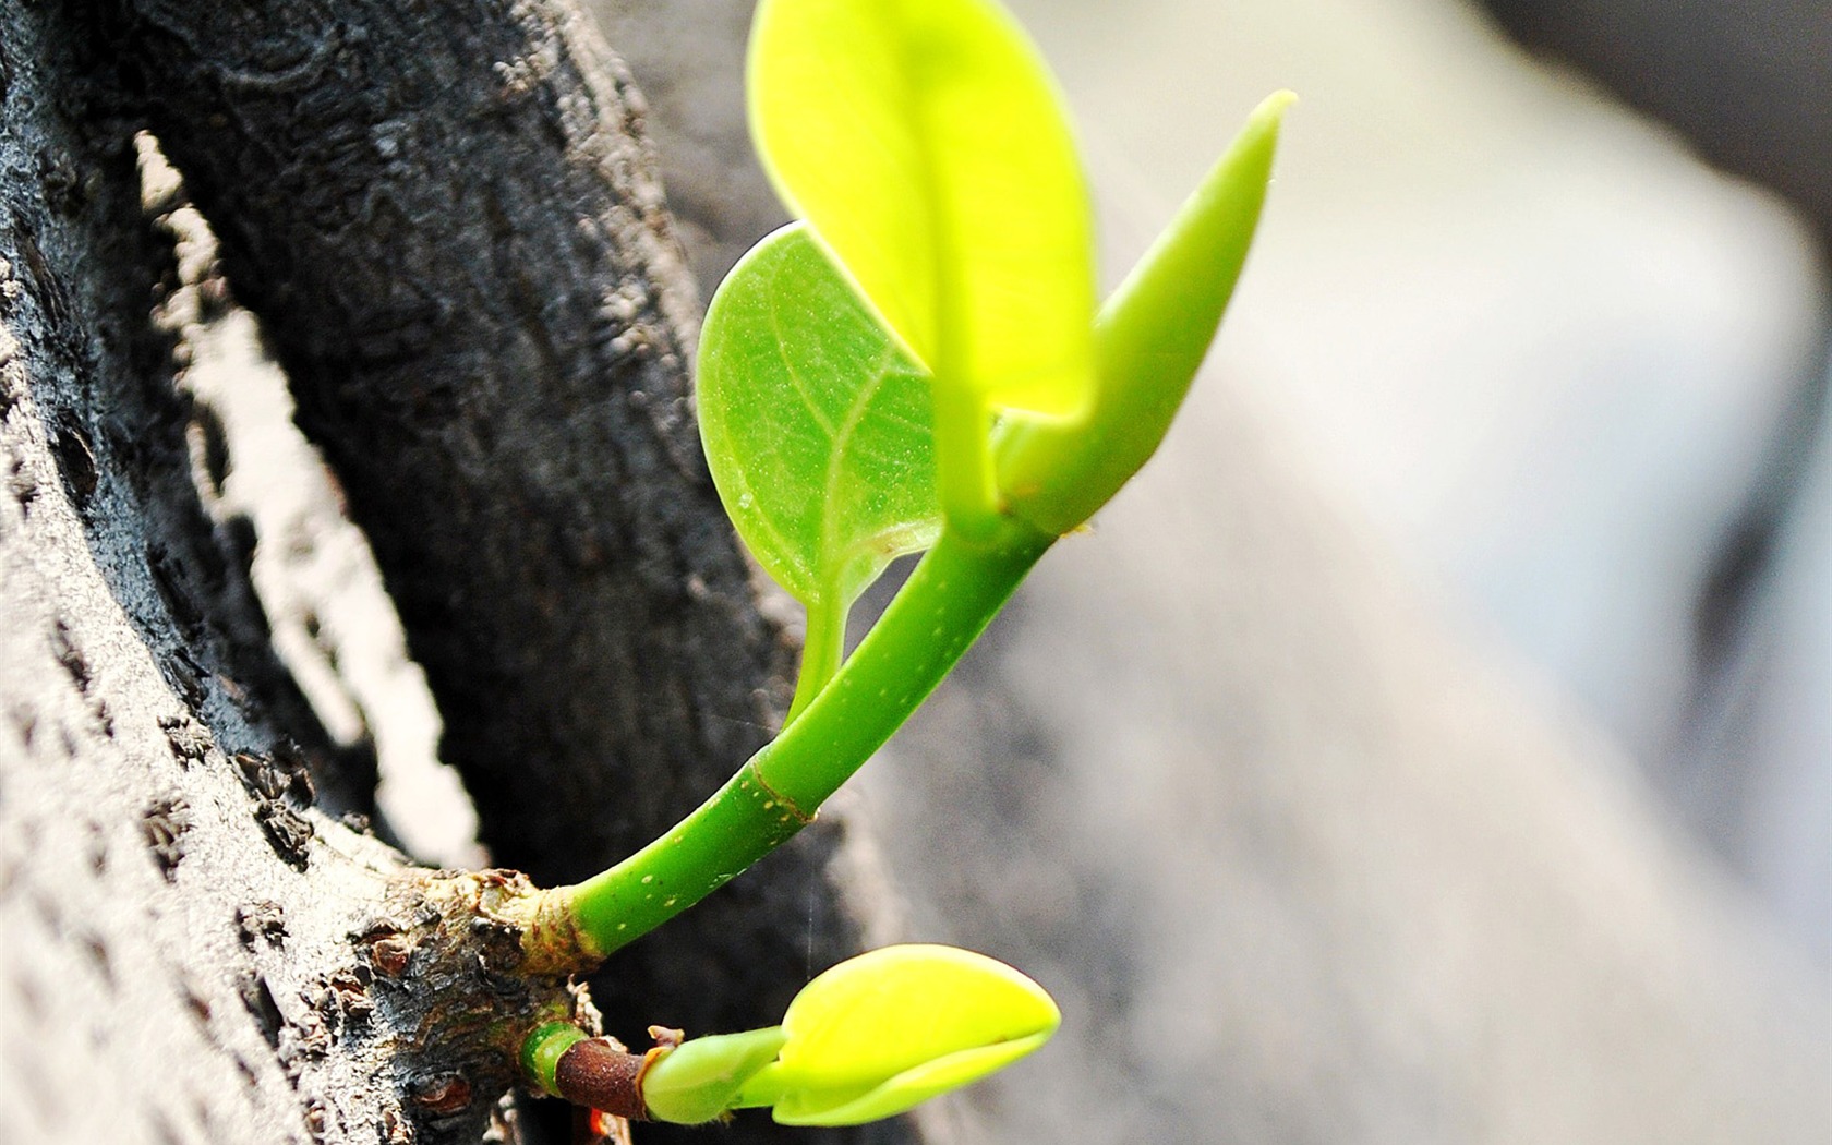
[[[267,641],[245,535],[213,524],[200,502],[185,442],[196,409],[172,385],[172,333],[150,321],[178,271],[169,236],[139,205],[132,119],[86,71],[86,44],[59,44],[68,48],[42,60],[64,77],[57,139],[26,172],[40,209],[15,200],[4,225],[16,282],[44,304],[37,348],[73,379],[37,392],[64,491],[174,692],[211,722],[284,729],[282,749],[310,769],[332,813],[366,813],[372,758],[335,749],[319,727]],[[20,62],[9,71],[20,75]],[[141,506],[137,531],[123,529],[119,498]]]

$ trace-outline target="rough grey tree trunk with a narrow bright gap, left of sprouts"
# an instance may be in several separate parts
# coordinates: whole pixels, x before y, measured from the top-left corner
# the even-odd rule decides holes
[[[786,654],[698,460],[639,104],[550,4],[71,0],[0,33],[0,1136],[476,1140],[509,1035],[572,995],[487,923],[515,879],[429,878],[332,817],[372,758],[326,746],[256,539],[200,504],[225,458],[152,322],[178,282],[134,137],[266,321],[485,839],[557,881],[713,790]],[[777,1017],[850,949],[835,841],[612,967],[621,1028]]]

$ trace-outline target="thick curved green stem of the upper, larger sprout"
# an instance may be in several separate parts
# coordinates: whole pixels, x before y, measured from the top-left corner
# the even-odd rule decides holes
[[[665,835],[555,892],[568,896],[588,953],[603,956],[647,934],[812,823],[947,676],[1053,542],[1015,518],[982,542],[943,531],[870,634],[775,742]]]

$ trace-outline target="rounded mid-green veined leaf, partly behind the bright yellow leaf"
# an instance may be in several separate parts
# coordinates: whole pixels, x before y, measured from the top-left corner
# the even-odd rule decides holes
[[[751,553],[808,606],[841,612],[894,557],[934,542],[929,379],[802,224],[764,238],[713,295],[700,436]]]

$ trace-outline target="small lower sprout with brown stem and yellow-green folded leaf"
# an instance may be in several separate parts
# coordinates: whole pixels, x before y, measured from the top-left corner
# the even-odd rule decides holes
[[[1050,995],[1002,962],[892,945],[804,986],[780,1026],[665,1037],[636,1055],[555,1022],[526,1055],[542,1090],[617,1116],[700,1125],[768,1107],[782,1125],[861,1125],[1002,1070],[1061,1022]]]

